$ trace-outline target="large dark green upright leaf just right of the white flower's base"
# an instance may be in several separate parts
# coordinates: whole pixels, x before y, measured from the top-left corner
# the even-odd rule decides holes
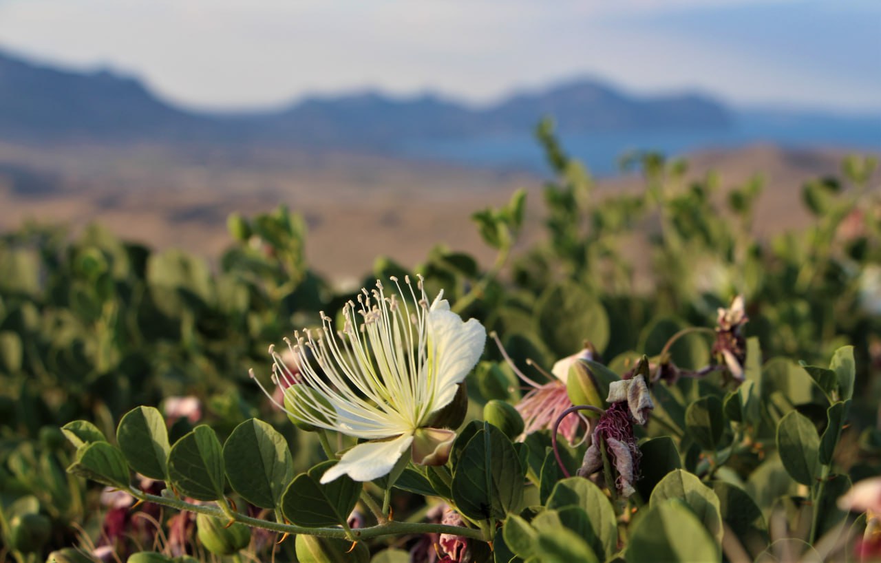
[[[470,518],[504,520],[523,500],[524,471],[511,441],[485,423],[470,439],[455,466],[452,493],[460,512]]]

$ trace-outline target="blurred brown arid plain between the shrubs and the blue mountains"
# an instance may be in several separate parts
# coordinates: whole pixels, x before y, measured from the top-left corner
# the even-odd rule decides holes
[[[761,173],[760,233],[804,226],[803,181],[836,174],[843,152],[783,151],[753,145],[692,155],[689,175],[714,169],[723,188]],[[543,179],[437,162],[352,154],[309,155],[280,149],[174,149],[160,145],[26,146],[0,144],[0,231],[26,220],[61,223],[71,232],[99,221],[158,248],[216,259],[229,244],[226,216],[285,204],[307,219],[307,257],[337,280],[360,276],[387,255],[418,263],[433,245],[489,259],[470,214],[529,191],[523,243],[540,236]],[[640,189],[638,176],[599,182],[598,196]]]

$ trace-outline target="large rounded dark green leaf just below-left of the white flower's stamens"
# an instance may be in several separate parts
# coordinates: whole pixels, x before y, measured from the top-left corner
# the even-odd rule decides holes
[[[257,507],[278,506],[293,478],[293,460],[275,428],[257,419],[242,422],[226,439],[223,458],[236,493]]]

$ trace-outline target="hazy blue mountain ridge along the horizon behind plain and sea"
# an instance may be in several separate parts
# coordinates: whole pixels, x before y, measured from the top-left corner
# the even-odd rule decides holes
[[[192,140],[394,148],[429,138],[474,138],[529,131],[552,115],[567,133],[717,130],[722,104],[694,94],[636,98],[595,80],[519,93],[487,107],[433,95],[382,93],[307,98],[255,115],[197,114],[159,100],[135,78],[108,71],[59,70],[0,52],[0,138],[95,141]]]

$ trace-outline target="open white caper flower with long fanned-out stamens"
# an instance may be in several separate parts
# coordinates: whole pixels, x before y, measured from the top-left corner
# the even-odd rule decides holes
[[[408,448],[416,463],[445,463],[455,438],[430,422],[477,364],[486,331],[476,319],[464,322],[450,311],[442,291],[429,305],[421,277],[418,292],[410,278],[409,292],[391,280],[396,293],[387,296],[377,280],[376,289],[361,290],[358,305],[344,306],[343,330],[333,330],[322,313],[322,330],[285,339],[298,359],[296,377],[270,347],[273,382],[285,388],[279,408],[307,425],[366,440],[345,452],[322,483],[341,475],[380,478]]]

